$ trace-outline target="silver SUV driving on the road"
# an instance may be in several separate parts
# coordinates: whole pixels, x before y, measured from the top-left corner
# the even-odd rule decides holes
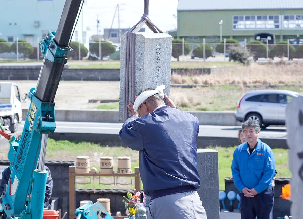
[[[288,90],[252,90],[237,102],[237,121],[256,120],[262,127],[285,125],[285,108],[298,92]]]

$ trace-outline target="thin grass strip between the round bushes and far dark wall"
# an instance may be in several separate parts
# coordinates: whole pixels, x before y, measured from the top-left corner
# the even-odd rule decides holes
[[[103,61],[90,64],[73,64],[68,62],[69,69],[120,69],[120,61]],[[171,62],[171,69],[199,69],[210,67],[240,66],[235,62]]]

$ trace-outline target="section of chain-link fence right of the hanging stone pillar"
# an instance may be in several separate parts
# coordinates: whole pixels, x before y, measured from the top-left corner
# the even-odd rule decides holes
[[[205,40],[197,43],[173,42],[172,56],[179,61],[188,61],[188,59],[214,62],[231,61],[230,52],[235,48],[247,54],[250,61],[279,61],[281,58],[284,60],[303,59],[303,45],[292,45],[289,41],[269,44],[258,40],[238,42],[231,39],[224,39],[222,43],[205,43]]]

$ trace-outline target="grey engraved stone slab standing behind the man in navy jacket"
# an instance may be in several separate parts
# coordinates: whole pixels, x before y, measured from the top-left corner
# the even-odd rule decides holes
[[[212,149],[198,149],[198,171],[200,189],[198,194],[205,208],[208,219],[219,216],[219,178],[218,152]]]

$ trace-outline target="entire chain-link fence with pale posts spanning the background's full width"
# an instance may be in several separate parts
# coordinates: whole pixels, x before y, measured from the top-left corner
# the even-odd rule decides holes
[[[98,40],[97,40],[98,41]],[[222,43],[172,43],[171,55],[179,61],[190,59],[212,62],[231,61],[230,51],[238,47],[249,56],[251,61],[303,59],[303,45],[292,45],[287,42],[268,44],[261,41],[241,42],[224,39]],[[231,43],[233,41],[233,43]],[[19,60],[41,61],[43,56],[39,49],[40,41],[16,42],[0,41],[0,62],[13,62]],[[72,51],[68,52],[70,60],[120,60],[120,45],[101,41],[90,42],[89,48],[78,42],[71,42]]]

